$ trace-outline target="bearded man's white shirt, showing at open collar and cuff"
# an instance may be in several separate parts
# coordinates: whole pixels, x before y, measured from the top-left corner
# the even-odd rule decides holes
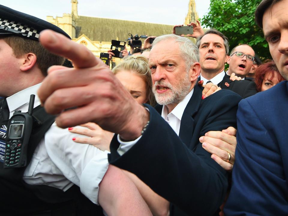
[[[190,101],[192,95],[194,92],[194,88],[186,95],[186,97],[181,101],[177,106],[171,111],[171,113],[168,113],[168,108],[166,106],[163,106],[162,108],[162,114],[161,116],[165,121],[171,126],[173,131],[179,136],[179,130],[181,125],[181,119],[182,115],[184,113],[184,110]],[[134,146],[138,140],[140,140],[142,135],[138,137],[136,140],[124,142],[121,140],[119,134],[117,136],[118,142],[120,143],[119,148],[117,149],[117,152],[119,155],[123,155],[125,152],[127,152],[129,149],[131,149],[132,146]]]

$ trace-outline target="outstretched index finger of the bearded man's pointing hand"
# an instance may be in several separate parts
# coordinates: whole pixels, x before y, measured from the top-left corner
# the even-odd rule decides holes
[[[94,67],[101,62],[85,46],[77,44],[52,30],[42,31],[39,41],[50,52],[69,58],[76,68]]]

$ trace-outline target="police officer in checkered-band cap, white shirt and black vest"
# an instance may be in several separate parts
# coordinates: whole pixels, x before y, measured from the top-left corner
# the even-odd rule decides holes
[[[101,208],[94,203],[98,203],[99,183],[108,168],[107,152],[74,143],[75,135],[54,125],[54,116],[45,113],[37,97],[47,69],[64,62],[38,42],[44,29],[70,38],[49,22],[0,5],[0,97],[4,97],[0,112],[0,214],[101,215]],[[32,94],[36,98],[27,166],[4,168],[16,156],[13,152],[4,155],[7,119],[16,110],[27,112]],[[66,149],[60,150],[59,142],[66,144],[59,144],[59,148]]]

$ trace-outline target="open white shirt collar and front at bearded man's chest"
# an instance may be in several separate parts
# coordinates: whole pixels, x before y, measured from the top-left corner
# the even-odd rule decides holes
[[[193,95],[194,88],[177,106],[168,114],[167,106],[163,106],[161,116],[171,126],[173,131],[179,136],[180,124],[184,110]]]

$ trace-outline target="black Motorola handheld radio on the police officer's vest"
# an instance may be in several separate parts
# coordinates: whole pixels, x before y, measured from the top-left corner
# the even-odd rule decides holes
[[[25,167],[27,149],[33,126],[35,95],[30,95],[28,113],[16,110],[7,125],[4,168]]]

